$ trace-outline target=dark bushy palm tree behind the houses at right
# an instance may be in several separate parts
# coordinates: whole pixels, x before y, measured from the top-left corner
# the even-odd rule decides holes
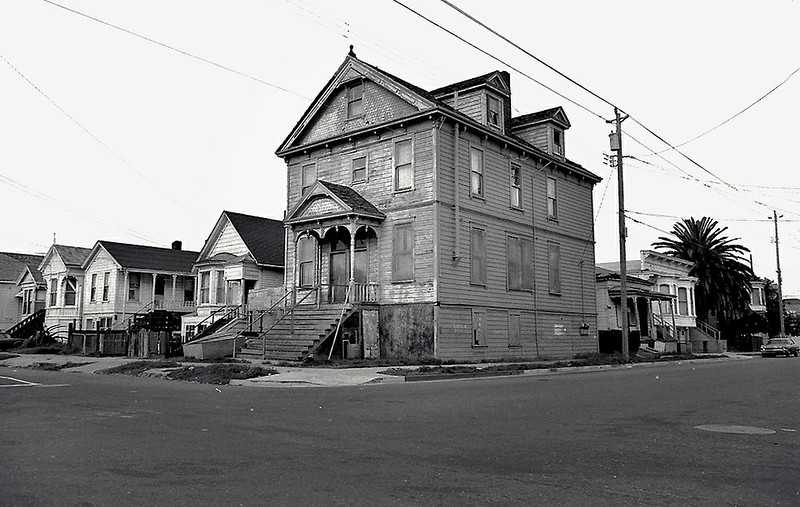
[[[667,255],[693,262],[689,272],[695,287],[697,315],[707,319],[714,312],[720,320],[741,317],[749,311],[753,270],[744,258],[750,249],[724,236],[727,227],[716,220],[684,218],[672,226],[673,237],[659,237],[653,247]]]

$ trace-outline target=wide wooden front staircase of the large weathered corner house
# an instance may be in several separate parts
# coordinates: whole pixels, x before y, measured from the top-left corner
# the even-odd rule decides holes
[[[351,305],[342,312],[341,304],[298,305],[272,329],[257,337],[248,338],[236,355],[243,359],[301,361],[336,331],[339,319],[352,315]],[[265,343],[266,341],[266,343]]]

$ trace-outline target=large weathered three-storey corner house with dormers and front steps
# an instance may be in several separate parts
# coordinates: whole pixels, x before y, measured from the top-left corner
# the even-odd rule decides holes
[[[324,325],[276,328],[243,353],[596,351],[600,178],[566,158],[563,109],[511,111],[507,72],[427,91],[351,48],[276,152],[288,180],[291,315]],[[346,343],[332,349],[340,325]]]

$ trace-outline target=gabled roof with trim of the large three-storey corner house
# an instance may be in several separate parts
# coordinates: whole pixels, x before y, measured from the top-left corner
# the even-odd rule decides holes
[[[333,94],[333,92],[340,86],[355,79],[355,76],[352,74],[353,71],[359,72],[360,73],[359,75],[362,78],[370,79],[381,84],[391,92],[397,94],[404,100],[415,105],[419,109],[419,113],[405,116],[403,118],[393,118],[381,124],[367,125],[361,129],[342,133],[340,136],[335,136],[318,142],[315,141],[313,143],[310,143],[308,146],[315,146],[315,145],[322,146],[332,140],[335,141],[340,137],[348,138],[363,133],[372,133],[375,131],[377,127],[381,125],[388,126],[396,122],[428,118],[431,112],[438,111],[440,113],[444,113],[446,116],[464,125],[469,125],[472,128],[482,131],[487,136],[499,139],[503,143],[516,146],[517,149],[523,149],[526,152],[535,154],[537,157],[541,157],[541,159],[543,160],[551,161],[556,166],[561,167],[566,171],[575,173],[580,177],[593,181],[594,183],[602,181],[602,178],[600,178],[593,172],[589,171],[588,169],[584,168],[580,164],[566,158],[563,159],[560,157],[556,158],[548,154],[541,148],[534,146],[533,144],[522,139],[521,137],[514,135],[511,132],[502,133],[494,129],[491,129],[488,126],[483,125],[482,123],[469,117],[467,114],[457,111],[453,107],[444,103],[442,100],[437,99],[436,96],[434,95],[435,92],[439,96],[442,96],[443,94],[446,94],[447,90],[451,88],[454,90],[456,88],[465,89],[468,86],[480,85],[481,83],[487,83],[487,81],[492,81],[492,80],[499,80],[499,82],[501,83],[507,83],[510,81],[510,76],[508,75],[507,72],[505,71],[489,72],[487,74],[483,74],[475,78],[470,78],[464,81],[459,81],[458,83],[453,83],[451,85],[446,85],[444,87],[437,88],[436,90],[434,90],[434,92],[429,92],[385,70],[381,70],[380,68],[375,67],[369,63],[366,63],[363,60],[359,60],[353,53],[352,46],[350,47],[350,53],[348,53],[344,62],[339,66],[338,70],[334,73],[334,75],[328,80],[325,87],[317,94],[317,96],[309,105],[308,109],[306,109],[305,113],[303,113],[303,115],[300,117],[300,120],[298,120],[298,122],[289,132],[289,135],[286,137],[286,139],[284,139],[284,141],[275,151],[276,155],[278,155],[279,157],[284,157],[290,155],[296,150],[300,150],[301,148],[303,149],[306,148],[306,146],[296,146],[295,143],[301,138],[301,134],[305,131],[306,127],[311,125],[311,121],[313,120],[315,115],[322,109],[326,100]],[[494,87],[494,85],[492,86]],[[569,127],[569,120],[566,119],[566,114],[564,113],[563,108],[556,107],[556,108],[551,108],[551,110],[554,111],[555,113],[558,113],[560,111],[559,114],[554,113],[555,116],[553,116],[552,118],[553,121],[557,121],[558,116],[563,115],[563,120],[558,120],[558,123],[561,123],[565,127]],[[551,111],[551,110],[545,110],[545,111]],[[540,113],[543,114],[544,112]],[[533,113],[533,114],[536,115],[539,113]]]

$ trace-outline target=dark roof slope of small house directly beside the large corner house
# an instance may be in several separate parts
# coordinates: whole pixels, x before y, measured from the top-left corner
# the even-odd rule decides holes
[[[282,220],[223,211],[257,264],[284,264],[285,230]]]

